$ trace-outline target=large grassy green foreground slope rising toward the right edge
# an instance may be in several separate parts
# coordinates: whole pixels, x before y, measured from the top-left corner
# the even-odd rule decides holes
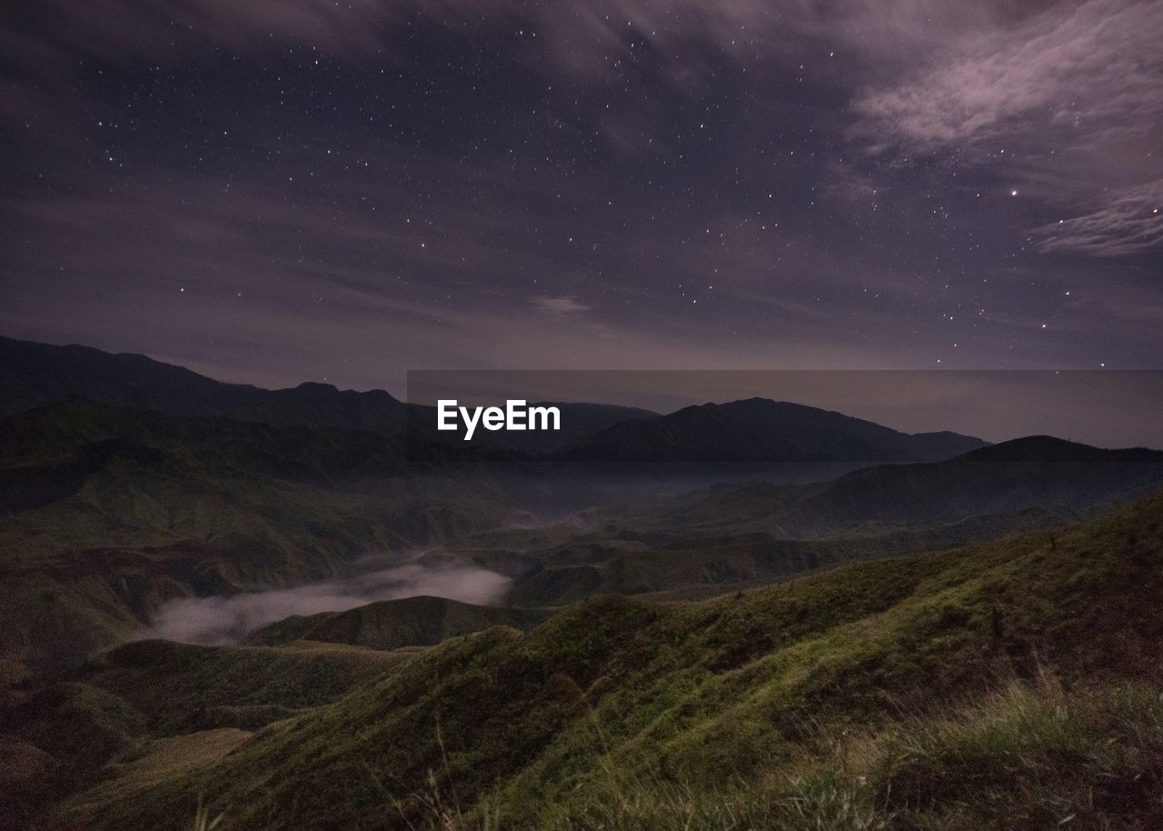
[[[594,598],[183,737],[57,829],[1156,829],[1163,493],[690,605]]]

